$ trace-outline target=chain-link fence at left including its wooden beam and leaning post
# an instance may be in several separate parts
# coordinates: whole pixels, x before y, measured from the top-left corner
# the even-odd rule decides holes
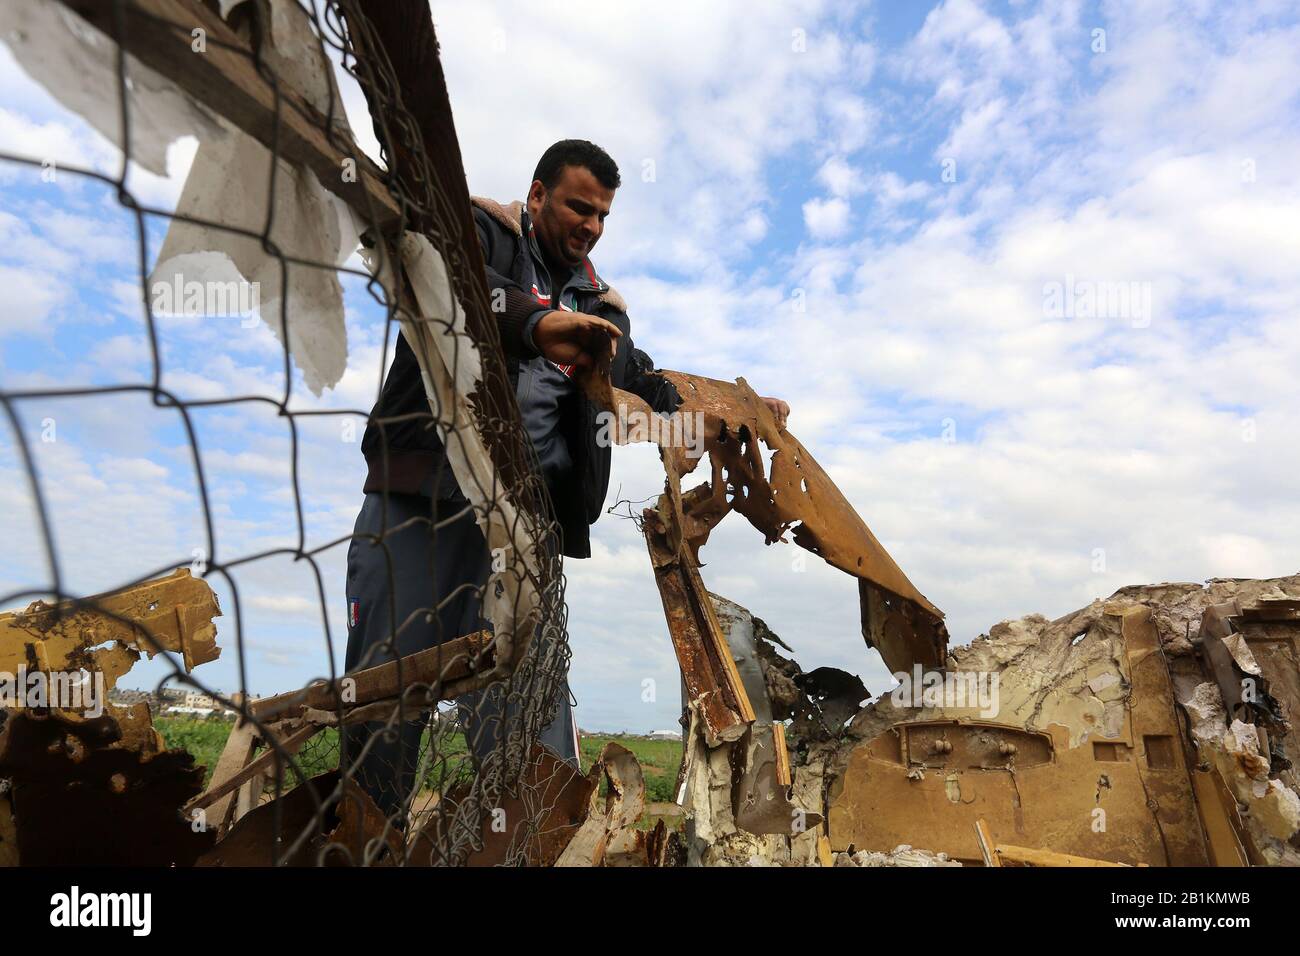
[[[306,822],[287,810],[270,810],[273,826],[272,839],[265,845],[266,861],[303,861],[306,852],[309,862],[460,865],[482,853],[484,835],[491,830],[506,834],[503,849],[495,853],[491,862],[536,862],[529,847],[550,810],[547,801],[552,797],[545,795],[554,795],[550,782],[540,779],[536,773],[538,739],[558,713],[562,695],[567,693],[569,649],[564,579],[555,525],[549,520],[547,492],[515,406],[481,260],[477,250],[467,242],[473,229],[472,225],[468,233],[465,229],[469,221],[468,194],[459,169],[450,109],[434,111],[436,116],[430,120],[432,105],[422,96],[412,95],[410,77],[399,75],[399,68],[389,56],[391,36],[384,36],[368,17],[377,7],[374,4],[246,0],[226,10],[220,10],[216,4],[135,0],[101,4],[32,4],[25,0],[25,5],[34,10],[43,8],[32,16],[43,17],[38,26],[44,23],[44,30],[55,29],[57,20],[65,30],[98,31],[94,43],[101,51],[104,62],[112,66],[112,88],[100,94],[105,109],[117,112],[118,122],[114,126],[110,118],[99,118],[114,126],[108,133],[121,147],[121,172],[110,176],[90,165],[62,164],[60,173],[88,177],[105,185],[135,222],[138,268],[121,278],[138,291],[139,321],[150,346],[151,369],[142,380],[100,386],[13,388],[0,382],[0,406],[9,427],[8,451],[26,475],[46,563],[44,576],[38,567],[32,567],[30,583],[0,596],[0,606],[16,607],[42,600],[70,602],[62,605],[62,613],[98,609],[112,614],[68,584],[64,551],[78,542],[60,541],[53,533],[56,515],[48,489],[57,476],[42,473],[39,455],[31,447],[29,410],[51,401],[96,403],[120,394],[147,397],[159,415],[176,416],[183,431],[205,536],[203,561],[196,567],[204,579],[220,584],[229,596],[231,606],[222,609],[218,643],[238,662],[238,697],[221,695],[211,687],[202,667],[187,672],[166,654],[160,659],[169,661],[170,667],[160,687],[168,683],[194,688],[238,709],[243,714],[240,724],[255,727],[259,740],[246,762],[266,749],[277,754],[277,760],[246,784],[255,788],[252,805],[246,808],[248,813],[257,812],[255,808],[259,804],[287,800],[295,788],[306,795],[309,801]],[[387,12],[389,16],[393,13],[391,9]],[[437,65],[432,22],[424,21],[417,20],[407,40],[425,44],[420,55],[432,57],[432,64]],[[91,42],[87,36],[82,35],[75,42]],[[29,42],[31,39],[27,38]],[[198,51],[196,46],[200,39],[203,51]],[[195,51],[187,64],[179,53],[172,52],[186,46]],[[355,82],[364,92],[382,150],[378,164],[369,163],[360,153],[348,133],[337,82],[321,73],[329,69],[329,64],[337,66],[344,82]],[[77,69],[75,65],[69,66]],[[192,207],[161,208],[133,193],[129,169],[142,161],[142,151],[157,150],[157,130],[166,126],[150,113],[159,103],[157,98],[151,100],[146,95],[157,94],[153,87],[159,77],[165,79],[169,95],[185,96],[191,105],[202,100],[202,111],[216,114],[218,125],[234,130],[234,135],[240,137],[248,148],[248,155],[259,157],[257,168],[242,166],[237,178],[247,177],[246,199],[261,194],[260,228],[248,228],[247,220],[240,224],[228,216],[195,215]],[[424,82],[441,86],[441,68]],[[231,94],[240,90],[246,94],[243,98]],[[257,90],[269,91],[269,98],[259,103]],[[196,96],[196,91],[202,95]],[[443,87],[443,103],[445,99]],[[94,117],[87,118],[95,122]],[[114,131],[116,135],[112,135]],[[432,156],[428,148],[430,135],[438,138],[439,151],[450,143],[450,153]],[[202,151],[207,146],[202,134],[199,140]],[[312,150],[321,157],[315,170],[304,161],[304,155]],[[456,163],[447,161],[448,156]],[[4,165],[26,168],[32,174],[42,169],[44,160],[8,147],[0,152]],[[320,174],[329,164],[337,164],[335,179]],[[195,176],[194,170],[191,176]],[[367,186],[367,181],[372,185]],[[281,225],[285,211],[303,202],[304,183],[311,186],[312,182],[316,185],[306,193],[320,193],[324,187],[330,202],[346,202],[346,212],[351,216],[368,267],[359,267],[351,256],[342,261],[330,256],[306,256],[300,252],[303,243],[285,241]],[[378,183],[382,191],[373,183]],[[183,196],[181,206],[185,206]],[[259,274],[273,276],[278,281],[280,294],[274,297],[274,307],[265,307],[268,297],[263,297],[261,310],[261,319],[276,330],[282,345],[278,398],[257,394],[199,397],[164,381],[166,351],[161,346],[164,333],[155,290],[151,289],[160,252],[157,243],[150,241],[150,229],[161,224],[170,232],[178,222],[190,230],[202,230],[198,234],[218,247],[229,248],[233,243],[244,254],[243,261],[256,260]],[[437,254],[433,261],[441,263],[441,268],[412,274],[411,237],[420,237],[428,243],[422,247]],[[247,269],[240,272],[247,280]],[[406,336],[421,364],[428,389],[426,408],[377,419],[368,408],[304,407],[295,398],[295,393],[300,392],[295,372],[300,372],[303,358],[309,358],[312,345],[308,339],[315,332],[304,324],[304,315],[312,304],[303,302],[300,293],[317,287],[320,282],[313,277],[320,276],[364,284],[376,311],[382,312],[382,364],[380,368],[360,369],[376,382],[374,395],[380,394],[384,367],[398,346],[398,337]],[[420,298],[421,285],[425,289],[442,286],[442,295],[451,303],[447,313],[429,315],[422,308],[426,303]],[[436,367],[438,358],[445,362],[442,368]],[[48,371],[58,377],[53,364]],[[196,414],[213,408],[234,412],[273,410],[287,428],[291,447],[289,492],[296,515],[296,546],[231,553],[218,533],[221,522],[213,507],[212,471],[195,424]],[[304,499],[300,477],[303,450],[312,441],[304,424],[320,416],[335,416],[377,429],[380,454],[385,457],[384,471],[387,470],[390,451],[387,436],[393,429],[411,421],[437,429],[448,449],[439,467],[452,470],[464,496],[455,506],[459,511],[451,511],[447,501],[434,494],[422,499],[422,512],[396,524],[394,516],[398,509],[390,509],[385,493],[377,529],[313,542],[304,520],[312,502]],[[122,427],[127,423],[124,421]],[[355,453],[355,446],[352,449]],[[477,454],[476,449],[486,455]],[[442,486],[442,480],[439,472],[434,476],[434,486]],[[354,546],[354,540],[358,546],[387,551],[395,535],[412,528],[428,536],[430,554],[438,555],[439,561],[455,561],[455,551],[448,551],[441,540],[468,514],[473,515],[477,533],[488,533],[488,544],[499,538],[511,546],[493,548],[491,571],[455,593],[439,593],[437,568],[394,568],[390,554],[390,593],[396,588],[396,574],[416,574],[424,581],[426,600],[420,602],[416,613],[403,619],[390,615],[387,639],[368,649],[367,659],[359,663],[358,670],[391,659],[407,646],[402,640],[406,628],[419,630],[433,619],[441,620],[442,613],[454,602],[469,602],[477,609],[486,640],[464,645],[468,652],[459,657],[448,653],[445,661],[434,657],[430,662],[425,656],[420,667],[404,666],[411,659],[407,653],[395,665],[382,695],[364,708],[368,719],[359,723],[355,718],[361,708],[352,706],[358,701],[347,700],[346,688],[350,685],[342,680],[344,674],[339,663],[346,639],[346,628],[339,627],[344,620],[344,607],[334,606],[326,597],[326,578],[335,574],[332,564],[338,564],[338,554]],[[491,529],[495,529],[495,537]],[[320,656],[313,665],[316,678],[312,683],[317,691],[334,688],[329,697],[330,706],[312,706],[311,683],[304,683],[303,693],[290,700],[292,708],[287,710],[277,713],[248,704],[252,684],[248,646],[257,635],[248,623],[240,578],[255,570],[259,562],[272,559],[292,559],[309,568],[315,580],[312,600],[318,605],[321,623],[317,635]],[[192,554],[177,554],[174,561],[121,580],[118,587],[130,588],[191,563]],[[503,606],[503,602],[510,606]],[[351,614],[351,610],[347,613]],[[131,623],[120,615],[118,619]],[[503,633],[502,620],[514,622],[512,633]],[[455,639],[469,636],[450,633],[442,627],[425,630],[437,632],[425,650],[450,646]],[[162,649],[147,631],[142,631],[140,641]],[[438,652],[433,653],[437,656]],[[365,684],[364,680],[359,683]],[[481,706],[485,698],[494,701],[498,721],[493,727],[473,719],[474,708]],[[302,704],[306,706],[299,706]],[[295,741],[292,735],[308,726],[312,731],[304,740]],[[360,726],[369,731],[350,730]],[[403,726],[421,728],[411,786],[403,782],[402,767],[393,766],[385,773],[376,771],[373,762],[367,765],[372,752],[377,752],[384,741],[399,736]],[[410,758],[411,754],[402,754],[402,761]],[[363,766],[370,769],[363,773]],[[335,822],[358,791],[373,795],[376,774],[389,777],[382,786],[395,786],[400,791],[398,805],[387,808],[381,827],[365,827],[363,842],[330,839],[329,834],[338,832]],[[511,808],[525,810],[512,810],[516,818],[507,816],[502,822],[499,810],[507,803]],[[21,816],[21,808],[16,809],[20,825]],[[228,838],[238,826],[239,821],[228,819],[218,839]],[[142,834],[142,839],[147,835]]]

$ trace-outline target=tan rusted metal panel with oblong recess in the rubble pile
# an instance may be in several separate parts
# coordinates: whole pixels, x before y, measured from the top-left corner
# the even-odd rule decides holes
[[[998,842],[1019,847],[1206,865],[1152,611],[1117,604],[1089,620],[1078,640],[1072,619],[1037,624],[1032,650],[998,671],[998,706],[987,719],[968,701],[875,702],[880,730],[853,747],[829,788],[832,847],[911,843],[978,862],[975,822],[984,819]],[[962,649],[972,657],[950,674],[985,671],[998,659],[998,639]]]

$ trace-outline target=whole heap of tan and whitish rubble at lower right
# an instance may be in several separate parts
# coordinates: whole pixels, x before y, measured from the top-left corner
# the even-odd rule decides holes
[[[1002,622],[953,648],[932,687],[858,708],[852,675],[805,674],[715,597],[736,657],[760,662],[755,710],[788,723],[789,799],[822,823],[710,831],[699,861],[824,865],[824,839],[836,865],[904,844],[979,865],[983,823],[1008,858],[1040,865],[1300,865],[1297,598],[1300,575],[1128,587],[1056,620]]]

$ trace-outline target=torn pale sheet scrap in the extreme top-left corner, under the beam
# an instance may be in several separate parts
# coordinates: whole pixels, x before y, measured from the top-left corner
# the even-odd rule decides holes
[[[62,4],[47,0],[6,0],[0,38],[27,75],[122,148],[121,82],[113,40]],[[216,142],[229,135],[213,113],[131,56],[126,57],[126,75],[131,159],[155,176],[166,176],[166,151],[176,139]]]

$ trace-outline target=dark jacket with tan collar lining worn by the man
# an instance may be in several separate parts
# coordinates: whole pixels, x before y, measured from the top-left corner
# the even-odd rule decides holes
[[[659,412],[673,411],[680,398],[671,382],[654,373],[650,356],[633,345],[623,298],[595,273],[590,260],[566,277],[560,289],[551,289],[523,203],[500,206],[478,198],[473,203],[506,365],[520,401],[524,428],[537,449],[550,489],[564,554],[588,558],[589,525],[599,518],[608,490],[611,449],[595,440],[599,410],[567,378],[564,369],[537,352],[533,328],[551,308],[598,315],[623,332],[611,365],[614,385],[640,395]],[[387,424],[384,436],[374,424],[376,419],[411,414],[421,418]],[[460,498],[433,428],[419,363],[402,336],[370,419],[361,438],[367,492],[386,488],[393,493]]]

